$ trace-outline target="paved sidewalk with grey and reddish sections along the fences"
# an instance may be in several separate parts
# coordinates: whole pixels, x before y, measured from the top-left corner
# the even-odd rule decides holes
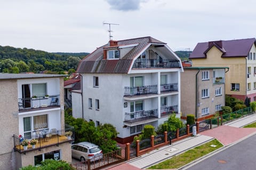
[[[199,133],[197,134],[197,136],[188,137],[181,141],[174,142],[172,143],[172,145],[166,145],[157,150],[150,151],[147,154],[142,155],[138,158],[134,158],[132,160],[126,161],[126,163],[124,164],[130,165],[129,170],[138,169],[138,168],[145,169],[152,165],[158,164],[166,159],[169,159],[172,156],[178,155],[181,152],[194,148],[197,145],[206,143],[214,138],[217,138],[219,141],[222,141],[222,143],[225,145],[229,145],[231,143],[241,141],[246,136],[249,136],[252,133],[256,133],[256,128],[249,128],[249,129],[238,128],[238,127],[243,127],[247,124],[251,124],[253,122],[256,122],[256,114],[246,116],[238,120],[234,120],[233,122],[227,123],[226,125]],[[221,131],[222,129],[223,129],[223,133]],[[243,135],[241,135],[241,133],[243,133]],[[231,135],[227,135],[227,134],[231,134]],[[118,168],[122,169],[122,166],[127,167],[127,165],[122,164],[109,169],[111,170],[118,169]]]

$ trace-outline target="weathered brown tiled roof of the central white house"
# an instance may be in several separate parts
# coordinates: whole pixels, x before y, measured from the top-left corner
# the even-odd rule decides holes
[[[108,44],[103,45],[93,51],[84,58],[77,68],[76,72],[98,72],[98,73],[127,73],[131,67],[132,60],[141,51],[143,51],[148,44],[165,44],[152,37],[141,37],[133,39],[125,39],[117,41],[118,46],[138,44],[133,47],[122,59],[119,60],[104,60],[103,48],[108,47]]]

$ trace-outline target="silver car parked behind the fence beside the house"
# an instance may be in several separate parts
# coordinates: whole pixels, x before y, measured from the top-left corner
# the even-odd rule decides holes
[[[102,150],[98,145],[90,142],[79,142],[71,145],[72,157],[85,161],[99,160],[103,157]]]

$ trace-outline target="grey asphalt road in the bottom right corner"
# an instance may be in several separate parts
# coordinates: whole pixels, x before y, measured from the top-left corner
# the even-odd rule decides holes
[[[235,134],[234,134],[235,135]],[[189,167],[189,170],[256,169],[256,134]]]

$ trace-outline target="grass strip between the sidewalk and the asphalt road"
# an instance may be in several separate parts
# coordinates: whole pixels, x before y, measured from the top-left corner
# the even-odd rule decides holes
[[[216,145],[216,147],[211,147],[211,145]],[[162,163],[151,166],[148,169],[175,169],[190,163],[208,153],[221,148],[223,145],[216,139],[207,142],[205,144],[199,145],[194,149],[190,149],[180,155],[174,156],[171,159],[165,160]]]

